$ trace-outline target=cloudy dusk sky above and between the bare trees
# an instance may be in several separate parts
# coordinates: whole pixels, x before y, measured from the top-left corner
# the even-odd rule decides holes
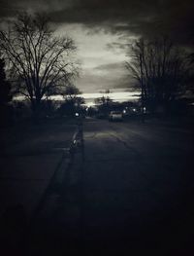
[[[193,0],[1,0],[0,7],[2,20],[18,11],[46,12],[57,33],[75,40],[83,92],[130,87],[124,61],[134,39],[164,34],[183,48],[194,44]]]

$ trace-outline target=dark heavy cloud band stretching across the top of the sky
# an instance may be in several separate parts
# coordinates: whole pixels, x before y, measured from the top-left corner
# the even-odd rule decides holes
[[[1,16],[19,9],[45,11],[54,22],[82,23],[112,33],[169,33],[185,43],[193,36],[193,0],[13,0],[1,1]]]

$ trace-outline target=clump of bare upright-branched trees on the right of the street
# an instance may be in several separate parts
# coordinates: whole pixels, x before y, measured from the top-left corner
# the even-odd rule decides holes
[[[131,52],[126,68],[142,91],[143,107],[145,104],[152,108],[166,104],[185,91],[188,63],[185,55],[168,38],[140,39]]]

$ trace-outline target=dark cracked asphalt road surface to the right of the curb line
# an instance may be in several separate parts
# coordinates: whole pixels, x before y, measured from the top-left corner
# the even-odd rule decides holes
[[[28,255],[177,255],[192,248],[193,137],[185,128],[86,120],[85,161],[53,186]],[[62,177],[62,176],[60,176]]]

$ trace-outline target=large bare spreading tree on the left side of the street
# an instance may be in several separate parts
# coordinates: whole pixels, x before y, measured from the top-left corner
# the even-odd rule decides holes
[[[78,74],[73,40],[56,36],[44,15],[19,14],[9,29],[0,31],[0,49],[12,78],[17,77],[17,92],[30,100],[35,114],[44,96],[62,93]]]

